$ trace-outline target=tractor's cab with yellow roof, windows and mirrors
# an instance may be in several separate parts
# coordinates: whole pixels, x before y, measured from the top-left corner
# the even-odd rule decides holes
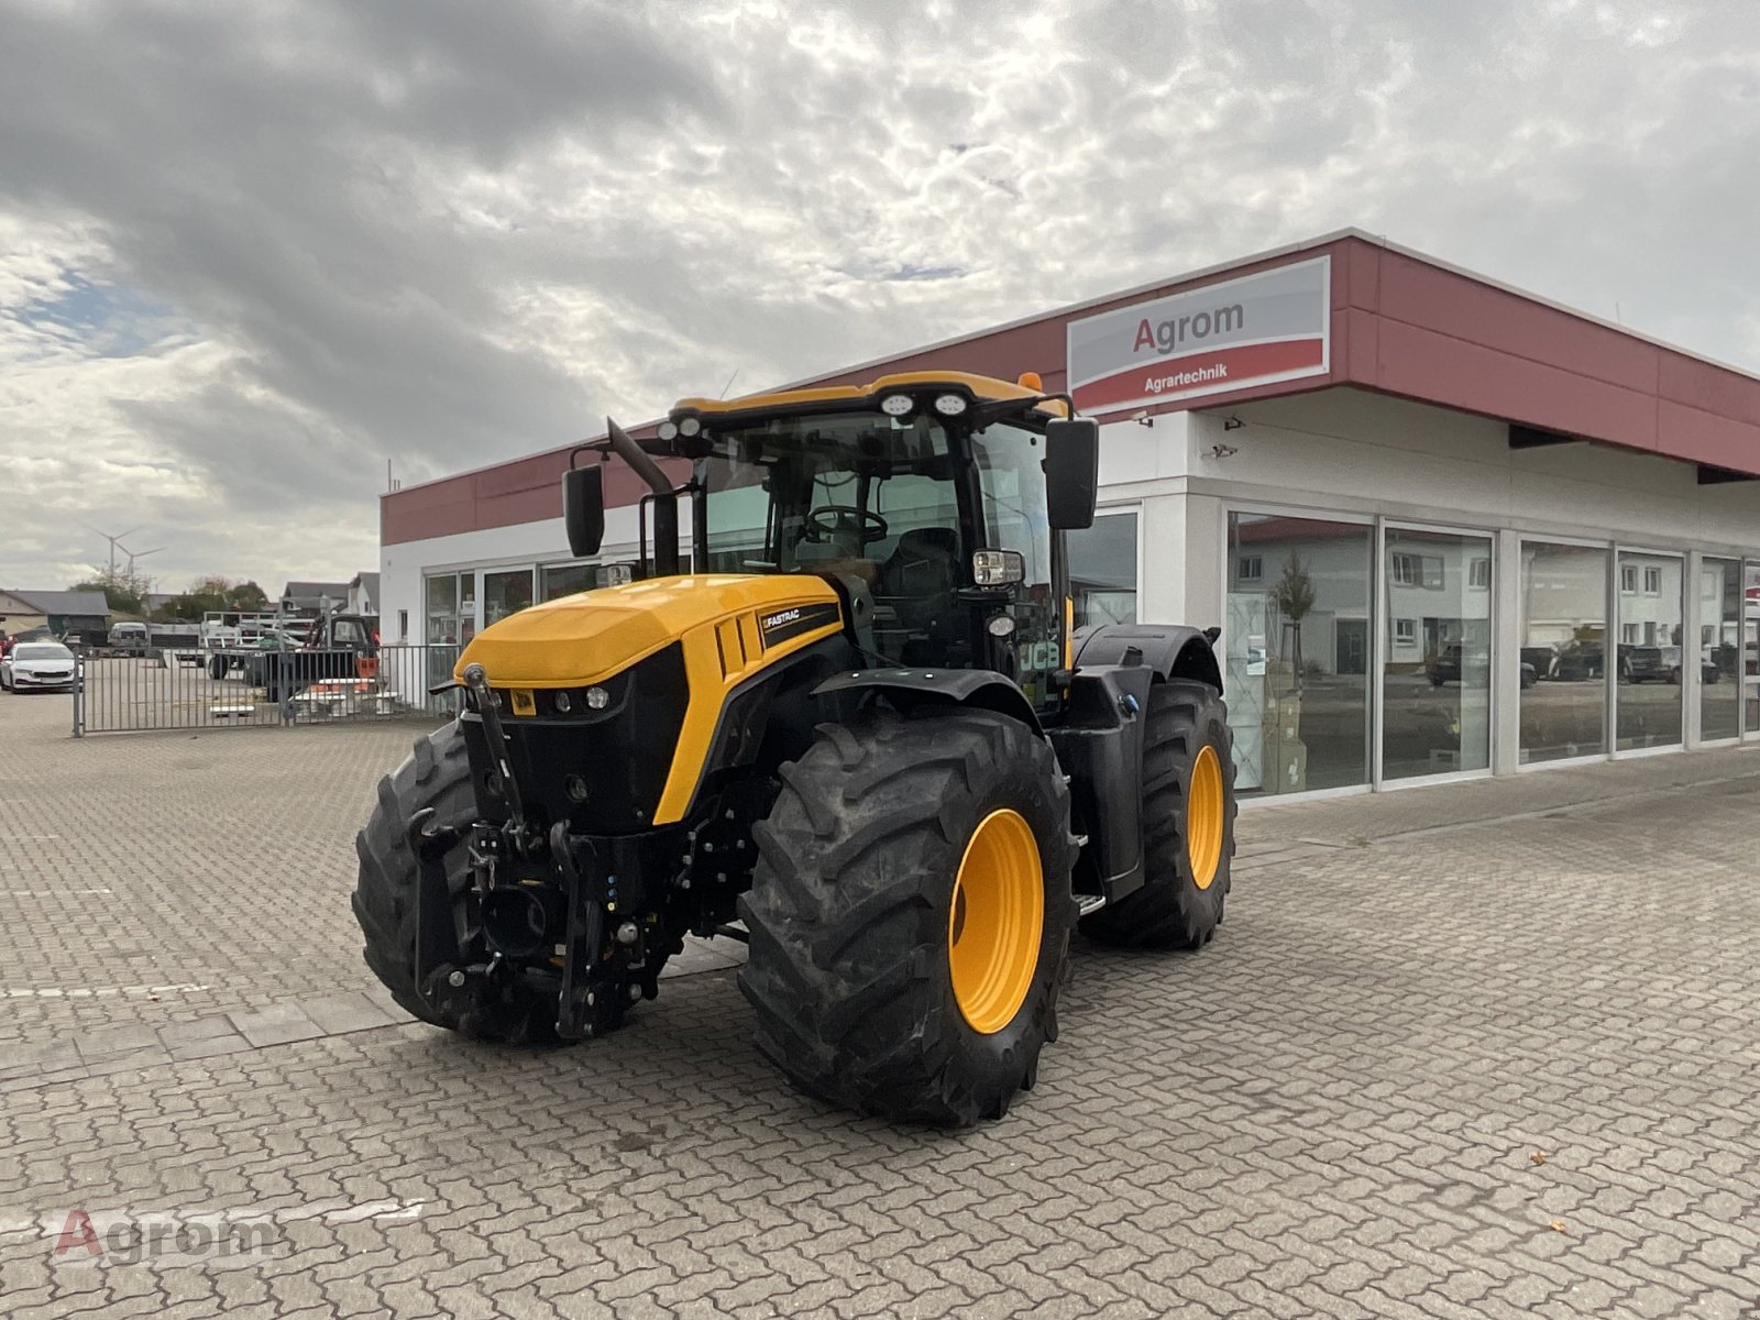
[[[845,602],[861,664],[994,671],[1045,706],[1065,664],[1063,532],[1093,523],[1096,489],[1096,428],[1068,412],[1037,377],[961,373],[681,400],[639,445],[692,465],[679,488],[658,470],[649,479],[656,546],[649,560],[644,544],[644,567],[683,567],[660,542],[676,537],[686,498],[697,572],[822,577]],[[609,429],[605,458],[634,447]],[[581,503],[570,500],[570,539],[590,554],[602,517]],[[577,524],[591,532],[576,537]]]

